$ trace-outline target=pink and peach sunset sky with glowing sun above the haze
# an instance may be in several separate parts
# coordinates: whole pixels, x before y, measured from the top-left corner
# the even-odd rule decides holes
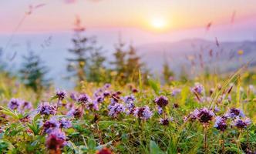
[[[87,28],[137,28],[148,32],[173,32],[227,25],[256,19],[255,0],[3,0],[0,2],[1,33],[14,31],[32,10],[18,32],[59,32],[72,28],[79,15]],[[256,20],[254,20],[256,22]],[[248,26],[251,22],[248,23]]]

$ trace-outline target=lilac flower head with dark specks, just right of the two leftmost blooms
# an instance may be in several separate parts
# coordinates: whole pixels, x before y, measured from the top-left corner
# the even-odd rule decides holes
[[[41,115],[56,115],[57,107],[50,105],[49,102],[42,102],[37,110]]]

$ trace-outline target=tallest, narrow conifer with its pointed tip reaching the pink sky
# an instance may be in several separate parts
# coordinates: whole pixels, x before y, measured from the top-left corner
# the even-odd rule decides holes
[[[81,20],[76,17],[74,37],[72,39],[73,48],[69,49],[73,58],[67,59],[69,65],[68,72],[73,72],[78,78],[78,82],[86,80],[86,66],[88,64],[89,54],[92,51],[91,40],[83,35],[86,29],[81,25]],[[73,76],[73,75],[72,75]]]

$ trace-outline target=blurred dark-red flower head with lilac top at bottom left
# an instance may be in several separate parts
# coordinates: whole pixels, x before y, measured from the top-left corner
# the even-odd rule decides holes
[[[53,150],[54,153],[60,153],[60,148],[66,142],[66,135],[60,129],[56,129],[49,133],[46,139],[46,146]]]

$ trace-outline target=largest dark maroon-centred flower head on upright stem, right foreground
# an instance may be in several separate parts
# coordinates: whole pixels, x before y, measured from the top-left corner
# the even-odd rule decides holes
[[[211,110],[209,110],[207,108],[203,108],[203,109],[199,109],[199,110],[196,109],[194,111],[194,115],[196,115],[199,122],[209,123],[214,117],[214,112],[212,112]]]

